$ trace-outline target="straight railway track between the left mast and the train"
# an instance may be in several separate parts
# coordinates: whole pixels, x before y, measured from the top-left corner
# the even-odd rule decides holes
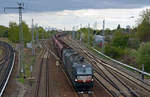
[[[44,45],[44,42],[42,42]],[[49,96],[48,52],[43,48],[40,52],[40,65],[33,97]],[[44,85],[43,85],[44,84]],[[43,92],[45,91],[45,92]]]

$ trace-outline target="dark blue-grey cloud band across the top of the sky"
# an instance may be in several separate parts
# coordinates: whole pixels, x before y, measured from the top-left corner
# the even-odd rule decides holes
[[[19,0],[1,0],[0,8],[17,6]],[[139,8],[150,5],[150,0],[22,0],[25,12],[44,12],[78,9]],[[16,11],[10,11],[16,12]],[[0,10],[2,13],[2,10]]]

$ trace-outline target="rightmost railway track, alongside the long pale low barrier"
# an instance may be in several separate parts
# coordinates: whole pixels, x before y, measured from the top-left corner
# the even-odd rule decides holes
[[[94,59],[96,58],[96,61],[99,63],[97,64],[97,66],[100,66],[100,64],[103,65],[107,71],[109,71],[117,80],[119,80],[124,86],[126,86],[132,96],[147,97],[148,95],[150,95],[150,85],[148,83],[145,83],[134,76],[128,75],[126,72],[120,71],[110,66],[91,53],[90,55],[93,56]]]

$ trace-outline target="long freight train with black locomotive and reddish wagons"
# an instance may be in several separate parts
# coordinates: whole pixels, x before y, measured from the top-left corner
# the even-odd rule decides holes
[[[93,88],[93,69],[84,57],[66,45],[60,38],[66,33],[53,36],[53,45],[57,56],[64,64],[64,70],[78,92],[91,92]]]

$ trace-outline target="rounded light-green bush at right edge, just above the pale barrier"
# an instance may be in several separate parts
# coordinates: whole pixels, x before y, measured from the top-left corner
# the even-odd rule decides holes
[[[150,42],[140,45],[136,59],[139,65],[145,65],[146,72],[150,72]]]

